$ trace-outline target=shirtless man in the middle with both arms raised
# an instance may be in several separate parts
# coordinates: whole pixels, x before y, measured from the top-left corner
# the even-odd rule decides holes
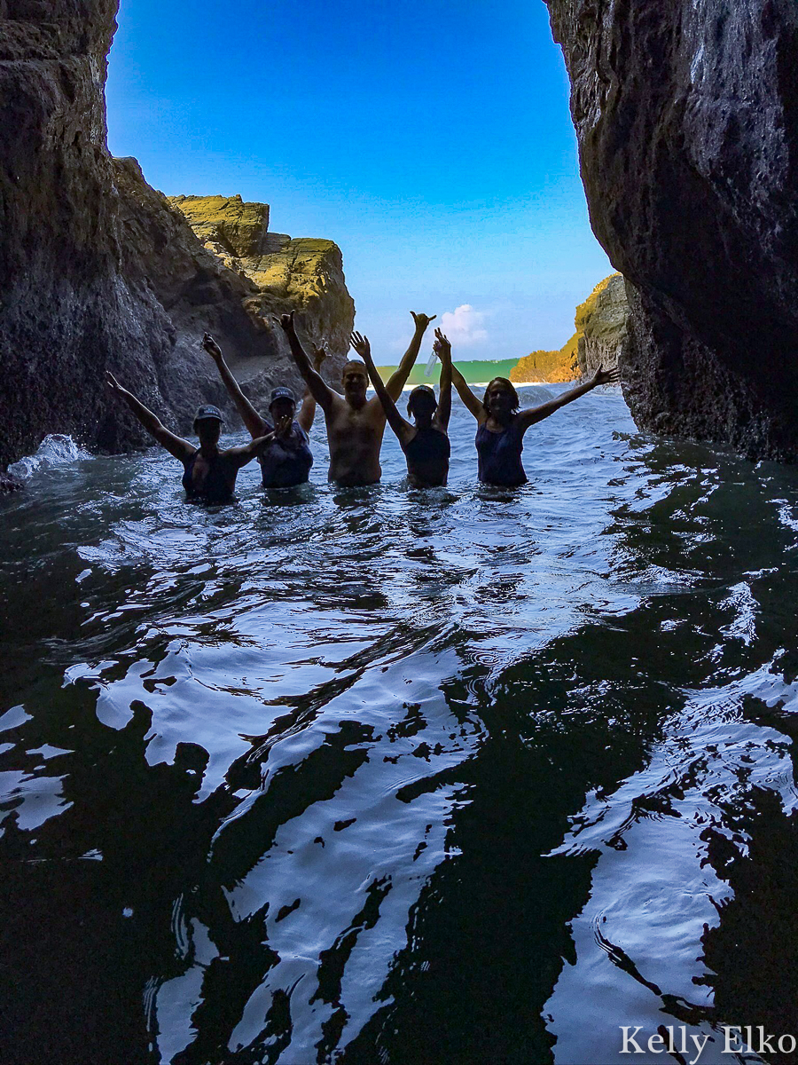
[[[413,340],[396,373],[392,374],[385,384],[395,403],[416,361],[425,330],[435,317],[434,314],[429,316],[413,311],[410,313],[416,324]],[[385,411],[378,396],[370,399],[366,396],[368,373],[365,364],[347,362],[340,376],[344,387],[344,395],[340,395],[326,384],[311,365],[294,328],[294,311],[283,314],[279,325],[285,331],[292,355],[311,395],[325,412],[327,440],[330,444],[330,471],[327,479],[345,486],[376,485],[382,476],[380,447],[385,432]]]

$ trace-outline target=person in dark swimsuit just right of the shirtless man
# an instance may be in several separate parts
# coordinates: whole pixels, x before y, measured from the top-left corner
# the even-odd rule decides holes
[[[382,404],[385,417],[396,433],[408,461],[408,479],[415,488],[435,488],[445,485],[449,476],[451,444],[447,429],[451,414],[451,347],[446,338],[436,330],[442,340],[435,341],[435,353],[440,359],[440,399],[429,384],[419,384],[408,396],[408,413],[414,424],[406,422],[397,410],[396,404],[371,358],[371,346],[367,337],[352,333],[352,347],[363,359]]]

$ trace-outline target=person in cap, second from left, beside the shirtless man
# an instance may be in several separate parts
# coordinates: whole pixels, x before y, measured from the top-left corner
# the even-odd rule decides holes
[[[292,488],[294,485],[303,485],[313,465],[313,455],[307,433],[313,426],[316,414],[316,400],[305,388],[304,397],[299,414],[297,414],[297,402],[294,392],[289,388],[277,388],[271,390],[269,403],[269,415],[271,421],[263,417],[254,409],[240,390],[238,381],[230,371],[221,348],[210,333],[202,338],[202,346],[216,363],[225,388],[235,404],[242,421],[249,430],[253,440],[268,436],[273,432],[275,425],[284,424],[286,421],[289,430],[273,436],[271,443],[261,453],[257,461],[261,463],[261,476],[264,488]],[[313,353],[313,365],[316,373],[319,372],[321,363],[327,358],[327,351],[322,346],[316,345]]]

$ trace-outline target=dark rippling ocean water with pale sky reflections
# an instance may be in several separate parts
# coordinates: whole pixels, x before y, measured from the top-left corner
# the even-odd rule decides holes
[[[3,1065],[794,1059],[724,1026],[798,1036],[798,471],[609,389],[491,489],[473,428],[0,501]]]

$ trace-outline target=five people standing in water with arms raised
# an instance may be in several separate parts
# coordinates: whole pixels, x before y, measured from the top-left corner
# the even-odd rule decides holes
[[[200,407],[194,421],[199,447],[178,437],[148,410],[132,392],[107,374],[111,389],[120,396],[147,431],[183,464],[183,487],[190,499],[227,503],[233,497],[235,479],[242,466],[257,459],[265,488],[288,488],[307,480],[313,455],[307,433],[318,405],[325,415],[330,445],[328,479],[342,486],[373,485],[380,480],[380,449],[385,423],[396,433],[408,462],[408,478],[416,488],[446,485],[451,452],[448,427],[451,413],[451,387],[477,420],[479,478],[486,485],[516,487],[527,481],[521,463],[523,435],[536,422],[572,403],[599,384],[617,381],[617,371],[600,366],[583,384],[563,392],[555,399],[520,410],[518,393],[504,377],[495,377],[480,399],[451,361],[451,345],[435,329],[433,349],[440,360],[439,394],[428,384],[419,384],[408,397],[408,414],[402,417],[396,406],[421,348],[421,340],[435,315],[411,311],[415,331],[396,372],[383,381],[371,358],[366,337],[351,335],[351,346],[363,360],[350,360],[342,372],[342,390],[336,392],[319,373],[326,357],[322,347],[309,356],[294,324],[294,311],[276,320],[283,329],[292,355],[305,381],[305,395],[297,412],[294,392],[276,388],[271,392],[269,416],[259,414],[242,392],[238,382],[213,337],[205,333],[202,344],[216,363],[221,380],[252,440],[240,447],[219,448],[222,415],[218,407]],[[368,398],[369,379],[375,395]]]

